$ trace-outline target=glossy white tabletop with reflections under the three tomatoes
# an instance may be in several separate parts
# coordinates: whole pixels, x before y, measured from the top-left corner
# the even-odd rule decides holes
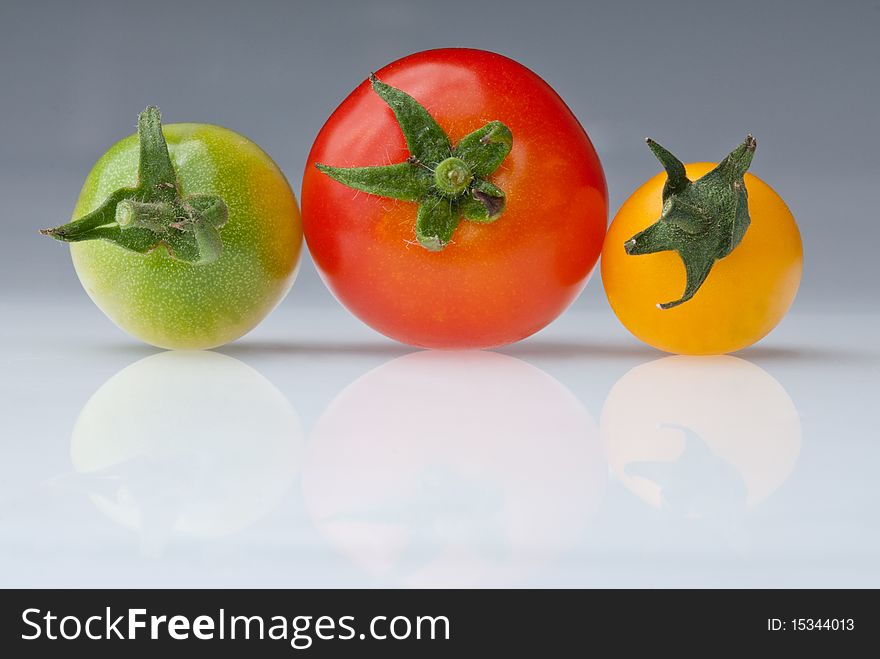
[[[0,312],[0,586],[880,586],[876,315],[688,358],[610,312],[465,353]]]

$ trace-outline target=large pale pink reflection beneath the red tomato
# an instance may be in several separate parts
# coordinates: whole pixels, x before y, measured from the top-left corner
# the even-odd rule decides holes
[[[543,371],[417,352],[330,404],[303,489],[321,534],[386,583],[506,585],[577,541],[606,474],[593,419]]]

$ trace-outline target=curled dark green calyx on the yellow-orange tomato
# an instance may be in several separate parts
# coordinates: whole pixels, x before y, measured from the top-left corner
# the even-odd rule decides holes
[[[663,211],[660,219],[623,247],[634,256],[678,252],[687,275],[684,293],[677,300],[657,305],[671,309],[700,290],[715,262],[730,254],[749,228],[749,195],[743,176],[758,143],[749,135],[715,169],[690,181],[678,158],[655,141],[647,142],[667,174]]]

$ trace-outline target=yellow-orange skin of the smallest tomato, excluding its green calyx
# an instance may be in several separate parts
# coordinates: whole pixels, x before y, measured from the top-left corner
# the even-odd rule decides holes
[[[714,163],[686,165],[700,178]],[[629,255],[624,243],[657,221],[666,173],[647,181],[626,200],[611,223],[602,252],[602,281],[611,308],[636,337],[667,352],[719,354],[755,343],[791,306],[801,280],[803,249],[794,218],[782,198],[752,174],[744,177],[751,224],[742,242],[715,262],[694,297],[672,309],[657,304],[685,289],[678,253]]]

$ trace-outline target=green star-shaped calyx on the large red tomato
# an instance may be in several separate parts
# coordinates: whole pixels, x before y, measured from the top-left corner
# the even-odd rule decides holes
[[[490,223],[501,217],[504,191],[488,181],[513,147],[510,129],[490,121],[454,147],[428,111],[409,94],[370,76],[375,91],[391,108],[410,156],[402,163],[376,167],[316,167],[355,190],[380,197],[415,201],[419,244],[440,251],[462,219]]]

